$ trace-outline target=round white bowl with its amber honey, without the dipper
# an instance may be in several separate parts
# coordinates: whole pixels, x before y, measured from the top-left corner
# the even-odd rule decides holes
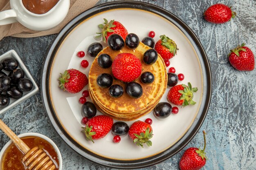
[[[29,146],[29,148],[38,148],[45,151],[45,153],[52,159],[56,166],[56,170],[62,170],[61,152],[54,142],[39,133],[23,133],[18,135],[22,141]],[[22,162],[22,152],[13,144],[8,141],[0,152],[0,170],[27,170]]]

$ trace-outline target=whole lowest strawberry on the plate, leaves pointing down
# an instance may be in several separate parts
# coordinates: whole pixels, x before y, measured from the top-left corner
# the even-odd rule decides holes
[[[153,136],[153,130],[151,126],[144,121],[135,121],[132,126],[130,126],[128,135],[136,143],[137,146],[143,148],[143,144],[147,146],[152,146],[152,142],[149,140]]]

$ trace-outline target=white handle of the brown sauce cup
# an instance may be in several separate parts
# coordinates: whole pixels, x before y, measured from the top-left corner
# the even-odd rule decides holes
[[[16,12],[13,9],[0,12],[0,25],[11,24],[17,22]]]

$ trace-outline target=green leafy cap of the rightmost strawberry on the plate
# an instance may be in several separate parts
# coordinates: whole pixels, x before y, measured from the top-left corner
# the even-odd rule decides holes
[[[196,102],[194,102],[193,99],[193,93],[198,91],[198,88],[192,88],[191,83],[188,83],[188,86],[186,86],[185,84],[182,84],[182,86],[184,87],[183,90],[180,90],[179,93],[182,94],[180,96],[180,100],[184,100],[184,102],[182,103],[182,106],[188,106],[188,105],[194,105],[196,104]]]

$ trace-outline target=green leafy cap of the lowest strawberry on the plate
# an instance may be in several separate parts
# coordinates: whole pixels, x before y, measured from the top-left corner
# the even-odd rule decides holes
[[[143,144],[146,144],[147,146],[152,146],[152,142],[149,140],[153,137],[153,130],[147,128],[144,132],[141,132],[139,135],[134,133],[133,135],[137,138],[133,140],[133,143],[136,143],[137,146],[141,146],[143,148]]]

